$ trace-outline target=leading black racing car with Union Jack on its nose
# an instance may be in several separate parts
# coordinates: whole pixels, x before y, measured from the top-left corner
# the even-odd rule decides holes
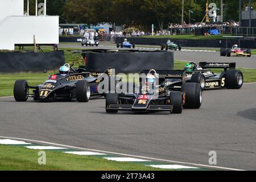
[[[135,91],[129,88],[129,91],[133,92],[113,90],[112,93],[106,93],[106,112],[129,110],[138,113],[181,113],[182,107],[199,109],[203,98],[200,84],[186,83],[185,75],[186,73],[180,70],[144,70]]]

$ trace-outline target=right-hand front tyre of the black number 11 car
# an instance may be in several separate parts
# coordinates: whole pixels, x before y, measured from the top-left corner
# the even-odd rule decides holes
[[[86,80],[76,82],[76,100],[78,102],[88,102],[90,100],[90,85]]]

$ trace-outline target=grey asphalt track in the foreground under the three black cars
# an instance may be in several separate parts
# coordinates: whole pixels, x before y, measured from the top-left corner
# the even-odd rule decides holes
[[[256,169],[256,84],[203,92],[199,110],[182,114],[105,113],[104,98],[89,103],[15,102],[0,98],[0,135],[158,159]]]

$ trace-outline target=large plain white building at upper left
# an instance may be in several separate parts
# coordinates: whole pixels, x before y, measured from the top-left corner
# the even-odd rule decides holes
[[[27,10],[29,9],[29,0]],[[38,9],[36,15],[24,15],[24,0],[0,1],[0,49],[14,50],[15,44],[58,44],[59,43],[59,16],[46,15],[46,0],[43,11]],[[39,15],[38,12],[43,12]]]

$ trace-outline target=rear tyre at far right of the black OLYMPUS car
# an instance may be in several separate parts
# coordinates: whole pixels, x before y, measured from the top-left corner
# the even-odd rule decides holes
[[[243,73],[236,69],[229,69],[225,72],[226,88],[240,89],[243,85]]]

